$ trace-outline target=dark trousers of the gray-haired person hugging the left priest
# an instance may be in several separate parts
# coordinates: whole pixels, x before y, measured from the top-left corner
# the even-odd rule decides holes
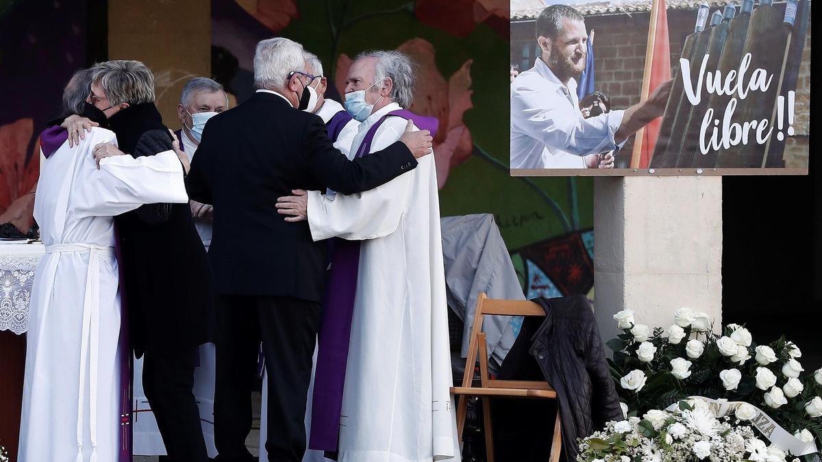
[[[196,360],[197,347],[172,353],[146,352],[143,359],[145,397],[173,462],[208,460],[193,392]]]

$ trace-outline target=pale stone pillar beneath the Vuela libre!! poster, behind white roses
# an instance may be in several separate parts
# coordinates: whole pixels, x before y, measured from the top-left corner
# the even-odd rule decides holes
[[[653,329],[690,307],[722,323],[722,177],[598,177],[595,311],[603,341],[630,308]]]

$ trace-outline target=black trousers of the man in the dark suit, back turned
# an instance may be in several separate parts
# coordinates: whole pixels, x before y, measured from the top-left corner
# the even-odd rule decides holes
[[[268,372],[270,462],[302,460],[320,304],[288,297],[224,295],[217,308],[214,437],[220,462],[247,462],[252,387],[262,341]]]

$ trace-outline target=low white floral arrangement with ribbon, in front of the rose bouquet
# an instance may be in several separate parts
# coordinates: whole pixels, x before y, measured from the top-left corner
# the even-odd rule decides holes
[[[673,411],[651,409],[642,418],[609,422],[579,444],[578,462],[786,462],[787,457],[737,419],[713,417],[699,400],[680,401]]]

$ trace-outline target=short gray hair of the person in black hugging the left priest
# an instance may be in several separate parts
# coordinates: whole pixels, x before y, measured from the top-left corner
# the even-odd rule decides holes
[[[155,100],[154,74],[139,61],[107,61],[95,64],[91,81],[103,87],[109,104],[141,104]]]

